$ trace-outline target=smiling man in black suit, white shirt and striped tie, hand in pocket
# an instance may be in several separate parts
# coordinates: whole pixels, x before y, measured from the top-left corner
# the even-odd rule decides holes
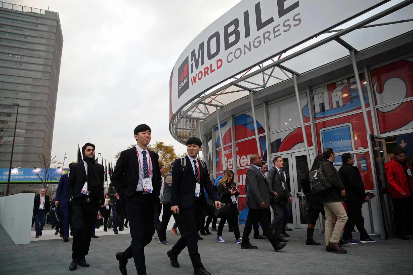
[[[119,196],[126,199],[125,211],[132,237],[131,245],[116,253],[116,259],[123,275],[127,274],[126,263],[132,257],[138,274],[146,275],[144,249],[154,233],[155,203],[159,202],[162,178],[158,154],[147,149],[151,128],[140,124],[133,135],[137,144],[121,152],[112,174],[112,184]]]

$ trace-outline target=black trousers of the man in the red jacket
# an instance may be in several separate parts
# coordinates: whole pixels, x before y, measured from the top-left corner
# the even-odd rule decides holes
[[[411,197],[392,198],[394,229],[398,237],[406,235],[412,230],[412,201]]]

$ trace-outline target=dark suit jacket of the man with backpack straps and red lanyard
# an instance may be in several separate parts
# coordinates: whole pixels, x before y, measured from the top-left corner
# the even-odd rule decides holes
[[[181,173],[180,158],[176,159],[172,167],[172,190],[171,190],[171,206],[178,205],[182,208],[190,208],[194,203],[195,197],[195,183],[198,179],[195,179],[194,169],[192,169],[192,164],[188,156],[186,158],[186,169]],[[204,162],[203,160],[199,160]],[[204,162],[204,167],[207,164]],[[213,202],[217,201],[216,193],[214,187],[212,186],[211,179],[209,178],[208,169],[202,169],[202,164],[199,163],[199,177],[201,183],[201,195],[200,198],[204,199],[205,193],[204,188]]]

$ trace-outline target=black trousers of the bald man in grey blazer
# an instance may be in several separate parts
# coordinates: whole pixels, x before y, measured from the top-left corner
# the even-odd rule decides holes
[[[265,209],[248,209],[248,217],[245,222],[244,233],[242,234],[241,245],[249,244],[249,234],[251,234],[252,224],[255,222],[261,223],[261,228],[267,235],[268,240],[273,245],[274,249],[277,249],[280,243],[278,239],[274,236],[273,231],[271,231],[270,225],[268,224],[268,208]]]

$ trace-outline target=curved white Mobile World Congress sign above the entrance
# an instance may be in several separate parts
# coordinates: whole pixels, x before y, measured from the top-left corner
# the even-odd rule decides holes
[[[383,0],[243,0],[185,48],[170,79],[171,118],[197,95]],[[316,58],[316,56],[315,56]]]

